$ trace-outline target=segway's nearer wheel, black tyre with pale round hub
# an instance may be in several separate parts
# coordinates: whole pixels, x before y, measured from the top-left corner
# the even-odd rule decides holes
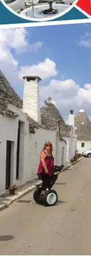
[[[58,201],[58,194],[55,190],[48,190],[45,195],[43,195],[43,202],[46,206],[53,206]]]

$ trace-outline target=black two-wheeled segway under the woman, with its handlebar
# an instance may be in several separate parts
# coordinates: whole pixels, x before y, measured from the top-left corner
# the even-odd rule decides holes
[[[50,187],[46,190],[45,195],[41,195],[42,185],[37,185],[35,192],[33,193],[33,199],[35,202],[45,206],[53,206],[58,201],[58,194],[55,190],[51,189],[58,179],[59,173],[63,170],[63,165],[54,165],[53,176],[51,177]],[[41,180],[41,175],[38,176]]]

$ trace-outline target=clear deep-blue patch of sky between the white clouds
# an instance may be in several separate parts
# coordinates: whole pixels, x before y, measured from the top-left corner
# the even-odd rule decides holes
[[[58,79],[61,74],[66,74],[66,78],[74,79],[82,87],[91,82],[91,51],[88,47],[80,47],[76,41],[79,41],[85,32],[90,31],[90,24],[30,27],[27,29],[28,41],[44,42],[43,47],[38,52],[17,56],[17,60],[20,65],[31,65],[48,57],[57,64]]]

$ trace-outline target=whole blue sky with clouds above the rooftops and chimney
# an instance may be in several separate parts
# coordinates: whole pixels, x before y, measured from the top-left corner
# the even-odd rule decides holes
[[[8,35],[10,30],[15,37],[13,46],[10,46],[10,36]],[[19,96],[23,96],[24,81],[18,76],[25,75],[27,66],[27,72],[35,70],[38,74],[38,64],[41,62],[38,74],[43,78],[40,84],[40,101],[45,100],[44,95],[45,97],[52,96],[65,119],[70,108],[74,108],[74,111],[77,112],[84,107],[87,114],[91,116],[91,24],[25,28],[21,32],[21,35],[24,34],[25,37],[20,37],[24,39],[19,38],[21,42],[18,41],[19,32],[17,33],[14,29],[10,30],[7,29],[5,47],[2,46],[3,40],[0,34],[0,47],[4,48],[0,49],[3,54],[6,49],[8,54],[11,54],[13,61],[11,60],[8,72],[7,58],[3,57],[3,60],[0,60],[0,65],[2,72]],[[9,59],[8,55],[8,66]],[[46,59],[49,60],[48,64],[42,67]],[[17,64],[14,64],[14,60]],[[44,75],[43,69],[46,69],[46,66],[48,70]],[[84,85],[86,86],[84,87]],[[48,95],[48,90],[51,95]]]

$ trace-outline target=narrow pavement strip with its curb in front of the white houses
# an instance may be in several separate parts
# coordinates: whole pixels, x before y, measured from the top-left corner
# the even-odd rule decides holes
[[[69,168],[72,165],[77,164],[77,162],[79,162],[80,160],[82,160],[84,157],[80,157],[75,163],[69,164],[66,167],[64,167],[63,170],[61,170],[61,172],[63,172],[64,170],[69,170]],[[24,185],[22,185],[21,187],[19,187],[19,189],[17,190],[15,195],[6,195],[6,197],[0,197],[0,211],[6,209],[7,207],[9,207],[9,205],[11,205],[13,202],[19,200],[20,198],[24,197],[24,195],[27,195],[29,192],[31,192],[32,190],[35,189],[35,187],[37,185],[41,184],[41,180],[35,179],[32,180],[31,182],[27,182]]]

